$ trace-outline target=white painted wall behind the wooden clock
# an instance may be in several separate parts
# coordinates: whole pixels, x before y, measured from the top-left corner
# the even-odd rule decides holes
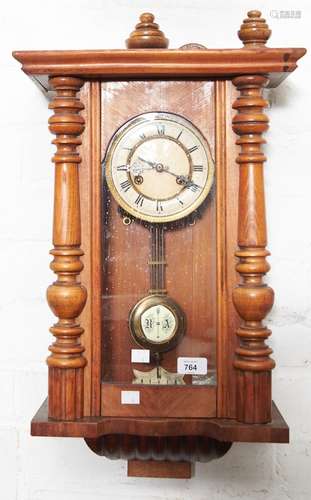
[[[47,393],[44,359],[53,318],[45,302],[51,247],[53,147],[47,102],[12,59],[14,49],[123,47],[138,15],[156,14],[171,47],[195,41],[238,47],[247,10],[264,12],[270,46],[310,42],[307,0],[11,0],[0,8],[0,490],[3,500],[309,500],[311,497],[310,58],[271,94],[267,207],[272,252],[270,315],[277,368],[274,399],[290,445],[236,444],[198,464],[192,480],[126,477],[123,461],[91,453],[83,440],[31,438],[29,421]],[[301,10],[276,19],[270,10]]]

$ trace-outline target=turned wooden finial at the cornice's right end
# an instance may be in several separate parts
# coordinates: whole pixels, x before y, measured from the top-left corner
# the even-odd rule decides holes
[[[270,35],[271,30],[259,10],[250,10],[238,31],[239,39],[248,48],[265,45]]]

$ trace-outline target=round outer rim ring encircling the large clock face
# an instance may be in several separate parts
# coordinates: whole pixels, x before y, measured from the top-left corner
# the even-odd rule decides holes
[[[198,139],[201,142],[201,144],[204,147],[204,150],[206,152],[207,163],[208,163],[208,175],[207,175],[207,180],[206,180],[205,186],[204,186],[200,196],[195,200],[195,202],[192,205],[190,205],[189,207],[187,207],[186,209],[181,210],[177,214],[164,215],[164,216],[159,215],[157,217],[155,217],[153,215],[142,214],[140,211],[136,210],[131,205],[129,205],[124,200],[124,198],[122,198],[122,196],[120,196],[120,193],[116,189],[115,184],[113,182],[112,157],[113,157],[113,153],[114,153],[118,143],[120,142],[125,131],[135,127],[139,122],[147,121],[146,117],[148,117],[148,120],[166,119],[166,120],[171,120],[171,121],[175,121],[175,122],[183,122],[184,126],[186,126],[184,124],[184,122],[188,123],[190,125],[190,127],[189,127],[190,129],[194,128],[196,130]],[[175,117],[175,118],[173,119],[173,117]],[[179,142],[176,139],[175,139],[175,141]],[[180,143],[180,144],[181,144],[181,147],[184,149],[183,144],[182,143]],[[190,161],[192,162],[191,156],[190,156]],[[198,129],[198,127],[196,127],[190,120],[188,120],[187,118],[185,118],[181,115],[178,115],[177,113],[164,112],[164,111],[163,112],[143,113],[143,114],[138,115],[134,118],[131,118],[130,120],[125,122],[112,136],[110,143],[108,145],[107,151],[106,151],[104,164],[105,164],[105,175],[106,175],[106,181],[107,181],[108,188],[109,188],[112,196],[116,200],[116,202],[120,205],[120,207],[122,207],[127,213],[129,213],[130,215],[132,215],[133,217],[135,217],[139,220],[143,220],[146,222],[152,222],[152,223],[157,222],[159,224],[162,224],[165,222],[173,222],[173,221],[183,219],[187,215],[191,214],[194,210],[196,210],[203,203],[203,201],[206,199],[208,193],[210,192],[212,185],[213,185],[214,174],[215,174],[215,166],[214,166],[214,162],[212,159],[210,146],[209,146],[207,140],[205,139],[205,137],[203,136],[202,132]],[[133,187],[135,189],[135,186],[133,186]]]

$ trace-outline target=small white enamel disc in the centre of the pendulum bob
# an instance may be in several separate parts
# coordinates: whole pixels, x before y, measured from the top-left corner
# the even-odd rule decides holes
[[[176,319],[168,307],[151,306],[141,315],[141,328],[149,342],[167,342],[176,331]]]

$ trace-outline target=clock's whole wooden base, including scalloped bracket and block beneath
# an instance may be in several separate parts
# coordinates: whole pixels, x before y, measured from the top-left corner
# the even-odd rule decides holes
[[[288,443],[289,428],[274,402],[268,424],[228,418],[48,417],[46,399],[31,421],[32,436],[79,437],[97,455],[128,460],[128,476],[190,478],[195,462],[227,453],[233,442]]]

